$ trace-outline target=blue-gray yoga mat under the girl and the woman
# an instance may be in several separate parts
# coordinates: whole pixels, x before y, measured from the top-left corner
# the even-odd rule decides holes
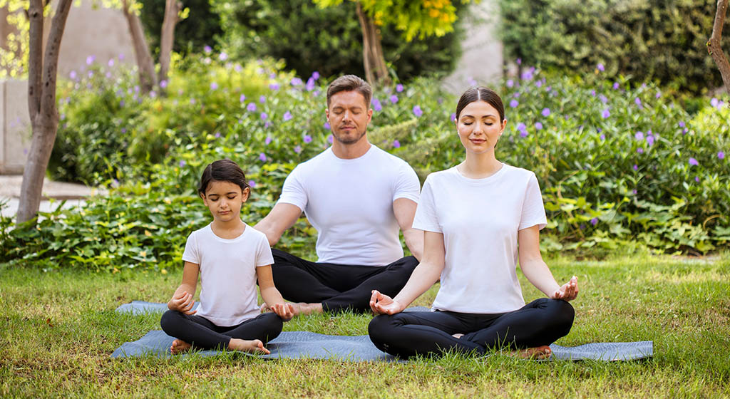
[[[173,356],[169,352],[174,338],[161,330],[147,333],[139,341],[126,342],[112,353],[112,357],[153,355]],[[266,359],[328,359],[350,362],[393,361],[396,357],[380,352],[369,336],[326,336],[308,331],[284,331],[266,347],[270,355],[249,355]],[[653,356],[653,342],[602,342],[580,346],[550,345],[550,360],[636,360]],[[222,351],[196,351],[196,355],[214,356]],[[177,356],[189,356],[183,354]]]

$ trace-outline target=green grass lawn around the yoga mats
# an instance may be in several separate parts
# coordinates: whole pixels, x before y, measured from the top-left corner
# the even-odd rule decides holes
[[[654,341],[650,360],[537,363],[495,355],[408,363],[212,358],[110,359],[159,329],[159,316],[115,314],[167,301],[170,274],[43,272],[0,265],[0,397],[730,397],[730,254],[710,259],[613,257],[548,262],[581,292],[558,344]],[[522,280],[526,301],[540,295]],[[429,305],[436,287],[415,305]],[[365,334],[370,317],[299,317],[285,330]]]

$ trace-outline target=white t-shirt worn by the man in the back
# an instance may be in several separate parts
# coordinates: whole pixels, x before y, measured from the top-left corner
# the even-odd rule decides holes
[[[330,147],[291,171],[279,202],[298,206],[317,229],[319,262],[385,266],[403,257],[393,201],[418,202],[419,192],[406,161],[374,145],[355,159]]]

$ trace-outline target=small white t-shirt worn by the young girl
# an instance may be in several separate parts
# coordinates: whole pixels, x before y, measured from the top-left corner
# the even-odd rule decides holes
[[[222,239],[207,225],[188,236],[183,260],[200,266],[196,315],[220,327],[258,316],[256,267],[274,263],[264,233],[246,225],[235,239]]]

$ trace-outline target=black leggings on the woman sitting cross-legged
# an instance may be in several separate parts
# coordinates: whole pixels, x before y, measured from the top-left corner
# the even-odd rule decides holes
[[[383,352],[399,357],[440,352],[484,354],[493,347],[531,348],[566,336],[575,311],[570,303],[540,298],[507,313],[407,311],[381,314],[368,327],[370,340]],[[452,334],[464,336],[454,338]]]

